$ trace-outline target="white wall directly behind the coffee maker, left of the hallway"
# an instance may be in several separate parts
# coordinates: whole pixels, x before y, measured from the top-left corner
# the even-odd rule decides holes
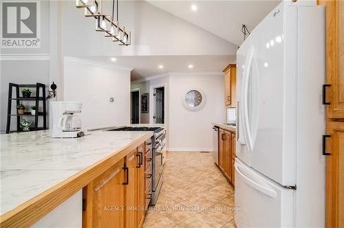
[[[66,57],[63,84],[64,100],[83,103],[83,129],[130,123],[129,70]]]

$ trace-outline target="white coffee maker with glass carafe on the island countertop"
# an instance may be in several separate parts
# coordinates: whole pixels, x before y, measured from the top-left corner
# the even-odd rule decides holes
[[[81,113],[83,104],[80,102],[51,102],[52,137],[76,138],[81,137]]]

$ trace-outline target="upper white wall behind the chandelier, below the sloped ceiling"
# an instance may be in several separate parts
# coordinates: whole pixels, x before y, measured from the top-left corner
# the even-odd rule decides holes
[[[105,14],[111,1],[103,2]],[[169,14],[146,1],[120,1],[119,21],[131,31],[131,45],[118,46],[95,32],[94,18],[83,16],[75,1],[61,1],[64,56],[234,55],[237,45]]]

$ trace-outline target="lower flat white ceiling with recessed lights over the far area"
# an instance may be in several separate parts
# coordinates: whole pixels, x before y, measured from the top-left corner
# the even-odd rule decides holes
[[[116,58],[116,61],[111,58]],[[222,71],[226,65],[235,62],[235,56],[89,56],[86,59],[131,67],[131,80],[168,72]],[[159,65],[164,68],[160,69]],[[189,65],[193,65],[193,68],[189,69]]]

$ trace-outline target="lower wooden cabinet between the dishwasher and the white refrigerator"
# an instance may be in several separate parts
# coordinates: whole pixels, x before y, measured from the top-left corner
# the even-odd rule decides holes
[[[235,133],[219,129],[219,168],[234,185]]]

